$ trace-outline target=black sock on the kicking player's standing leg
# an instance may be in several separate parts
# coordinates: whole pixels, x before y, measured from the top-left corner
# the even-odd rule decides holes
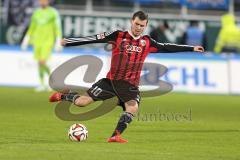
[[[112,134],[112,137],[117,135],[118,133],[121,134],[127,128],[128,124],[132,122],[133,114],[129,112],[124,112],[117,124],[115,131]]]

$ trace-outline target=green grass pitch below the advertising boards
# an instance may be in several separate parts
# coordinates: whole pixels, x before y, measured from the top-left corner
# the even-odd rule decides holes
[[[140,116],[123,134],[129,143],[109,144],[106,139],[115,128],[120,107],[90,121],[62,121],[55,116],[49,95],[0,88],[0,160],[240,159],[239,96],[169,93],[143,98]],[[86,109],[73,107],[74,112]],[[161,116],[150,116],[156,112]],[[87,126],[87,141],[68,139],[73,123]]]

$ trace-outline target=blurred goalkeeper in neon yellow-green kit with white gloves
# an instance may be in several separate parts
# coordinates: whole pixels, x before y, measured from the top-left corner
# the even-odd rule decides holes
[[[30,27],[21,44],[22,50],[26,50],[29,42],[34,48],[34,58],[38,61],[40,86],[36,91],[47,88],[44,84],[44,76],[50,74],[47,61],[51,56],[55,43],[55,51],[61,51],[62,31],[60,17],[56,9],[49,6],[49,0],[39,0],[40,8],[31,18]]]

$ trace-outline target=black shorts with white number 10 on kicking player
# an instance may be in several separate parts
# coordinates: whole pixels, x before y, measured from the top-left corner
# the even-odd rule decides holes
[[[118,105],[125,110],[124,103],[130,100],[136,100],[140,103],[140,91],[138,87],[124,80],[110,80],[108,78],[100,79],[94,83],[87,91],[88,95],[94,101],[110,99],[114,96],[118,97]]]

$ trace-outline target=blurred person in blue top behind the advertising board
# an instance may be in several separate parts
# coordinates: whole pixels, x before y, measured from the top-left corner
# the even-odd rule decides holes
[[[190,26],[183,34],[182,43],[206,48],[206,36],[204,31],[199,28],[198,21],[190,21]]]

